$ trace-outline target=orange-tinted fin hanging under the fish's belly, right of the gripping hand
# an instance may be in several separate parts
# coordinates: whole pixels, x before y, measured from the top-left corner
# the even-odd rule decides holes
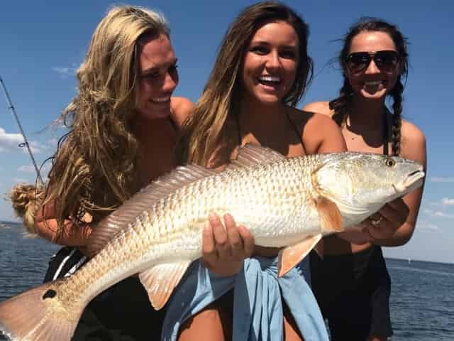
[[[292,270],[320,242],[321,234],[307,237],[303,241],[279,251],[277,275],[284,276]]]

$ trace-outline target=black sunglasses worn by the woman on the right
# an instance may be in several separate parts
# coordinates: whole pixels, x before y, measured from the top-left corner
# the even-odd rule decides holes
[[[355,52],[348,55],[346,62],[350,72],[364,72],[374,60],[380,71],[389,72],[399,63],[399,54],[394,50],[382,50],[377,52]]]

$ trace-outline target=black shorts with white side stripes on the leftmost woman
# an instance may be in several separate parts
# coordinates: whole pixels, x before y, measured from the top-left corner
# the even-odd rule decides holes
[[[45,281],[61,278],[84,264],[77,248],[63,247],[52,256]],[[96,296],[79,320],[72,340],[160,340],[165,309],[156,311],[137,277],[126,278]]]

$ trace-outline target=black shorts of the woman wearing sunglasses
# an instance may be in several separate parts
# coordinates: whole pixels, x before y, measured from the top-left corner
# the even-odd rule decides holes
[[[333,341],[363,341],[392,335],[391,278],[380,247],[324,256],[312,251],[312,290]]]

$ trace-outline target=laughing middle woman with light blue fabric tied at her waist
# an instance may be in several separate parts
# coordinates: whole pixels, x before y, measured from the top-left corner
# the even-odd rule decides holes
[[[204,92],[184,124],[180,160],[223,168],[245,144],[284,156],[345,151],[334,121],[295,108],[311,79],[307,37],[306,23],[283,4],[265,1],[244,9],[228,28]],[[215,222],[204,232],[206,266],[195,264],[170,298],[165,335],[328,340],[305,281],[308,262],[277,278],[277,249],[255,247],[249,259],[227,259],[221,229]]]

